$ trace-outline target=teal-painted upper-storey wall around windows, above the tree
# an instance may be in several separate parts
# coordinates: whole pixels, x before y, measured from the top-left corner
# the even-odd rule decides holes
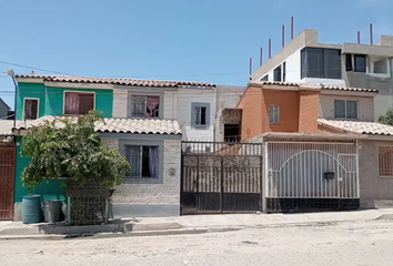
[[[112,117],[113,90],[51,88],[43,83],[18,83],[17,119],[23,116],[23,99],[39,98],[39,116],[63,115],[64,91],[95,93],[95,110],[102,111],[103,117]]]

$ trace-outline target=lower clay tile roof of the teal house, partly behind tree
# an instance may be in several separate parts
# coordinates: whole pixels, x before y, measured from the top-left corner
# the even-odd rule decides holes
[[[47,121],[67,116],[46,115],[38,120],[20,121],[17,130],[27,130],[42,125]],[[72,117],[77,119],[77,117]],[[56,126],[62,127],[59,123]],[[103,122],[95,124],[95,131],[101,133],[138,133],[138,134],[174,134],[180,135],[181,130],[175,120],[149,120],[149,119],[103,119]]]

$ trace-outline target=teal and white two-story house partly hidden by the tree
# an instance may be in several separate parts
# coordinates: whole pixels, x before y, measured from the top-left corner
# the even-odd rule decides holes
[[[115,187],[113,213],[123,216],[179,215],[182,135],[212,139],[214,85],[204,82],[155,81],[63,75],[17,75],[14,219],[28,192],[20,175],[29,158],[20,156],[26,130],[57,116],[100,110],[104,124],[95,130],[102,144],[118,149],[132,171]],[[34,193],[64,197],[61,181]]]

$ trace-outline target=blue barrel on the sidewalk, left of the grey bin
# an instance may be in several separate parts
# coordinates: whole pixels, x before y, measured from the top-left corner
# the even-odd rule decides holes
[[[40,223],[42,217],[41,196],[27,195],[22,198],[22,222],[23,224]]]

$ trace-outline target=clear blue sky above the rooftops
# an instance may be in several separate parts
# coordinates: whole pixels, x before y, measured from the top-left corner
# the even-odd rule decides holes
[[[321,42],[369,43],[393,34],[392,0],[0,0],[0,61],[77,75],[210,81],[244,85],[281,27],[318,29]],[[53,3],[56,2],[56,3]],[[0,63],[0,71],[49,73]],[[12,82],[0,96],[13,108]]]

